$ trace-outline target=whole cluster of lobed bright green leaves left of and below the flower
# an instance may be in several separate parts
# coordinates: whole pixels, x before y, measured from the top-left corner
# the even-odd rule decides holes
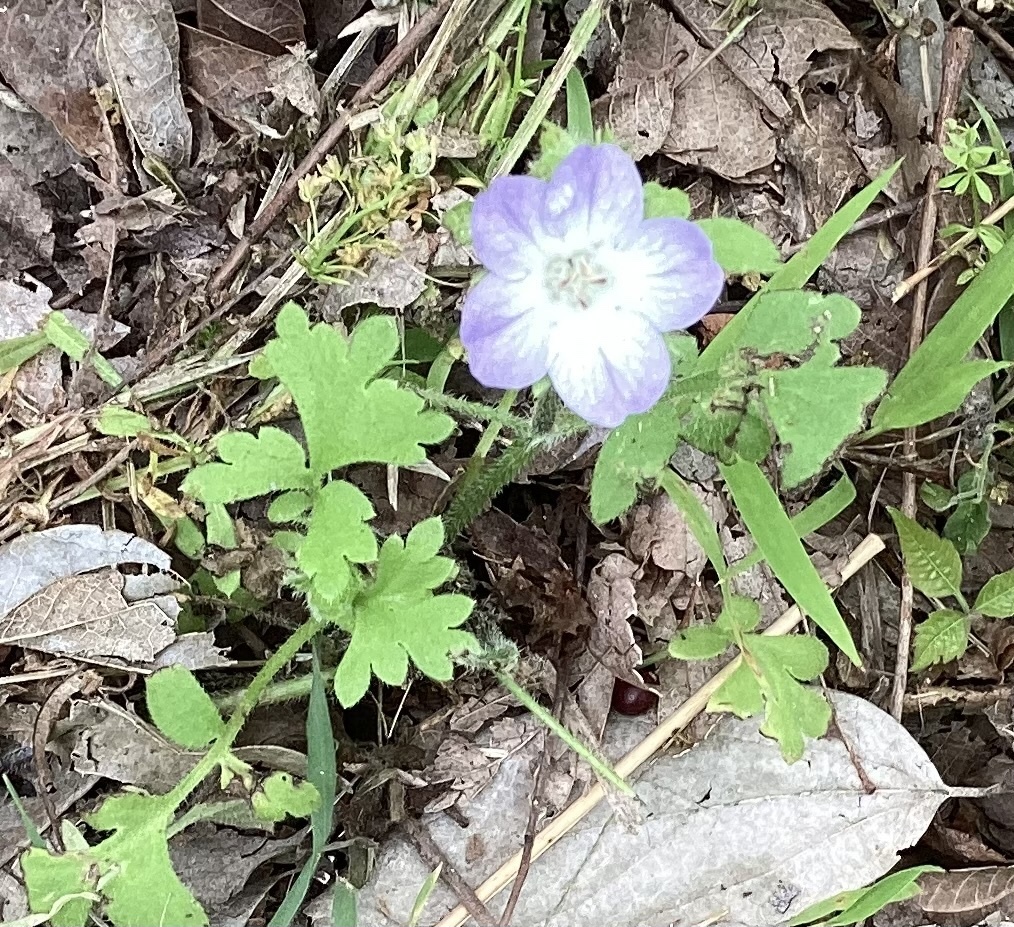
[[[277,378],[291,396],[305,448],[274,426],[223,434],[219,461],[197,467],[184,491],[209,506],[271,497],[268,518],[285,526],[274,543],[291,558],[290,585],[313,615],[350,637],[335,674],[342,705],[365,695],[371,673],[405,683],[410,657],[432,679],[449,680],[450,654],[473,642],[458,630],[473,602],[434,591],[454,572],[453,561],[438,553],[440,519],[378,545],[367,523],[374,515],[369,499],[335,472],[364,462],[422,464],[423,445],[446,438],[453,420],[424,410],[416,394],[383,375],[399,347],[389,317],[367,318],[345,339],[329,325],[310,326],[289,303],[276,334],[251,372]]]

